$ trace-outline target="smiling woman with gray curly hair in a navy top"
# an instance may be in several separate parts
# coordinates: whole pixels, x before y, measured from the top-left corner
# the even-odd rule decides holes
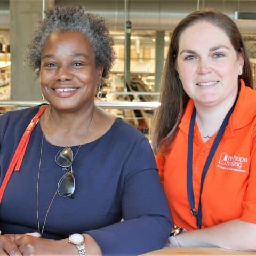
[[[82,6],[48,10],[37,27],[26,62],[50,104],[0,117],[1,255],[164,246],[172,223],[148,140],[94,105],[112,47]]]

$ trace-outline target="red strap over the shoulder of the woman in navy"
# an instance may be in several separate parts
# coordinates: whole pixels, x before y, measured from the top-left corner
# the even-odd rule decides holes
[[[42,106],[39,109],[39,111],[36,113],[36,115],[32,118],[31,122],[29,123],[28,127],[26,128],[25,132],[23,133],[23,135],[20,139],[19,145],[18,145],[17,149],[15,150],[15,153],[12,157],[12,161],[7,169],[3,183],[0,188],[0,203],[2,202],[5,188],[7,186],[7,183],[9,182],[9,179],[11,178],[13,170],[15,170],[15,171],[20,170],[20,166],[22,164],[23,157],[25,155],[25,152],[26,152],[26,149],[28,146],[30,135],[33,132],[35,126],[37,125],[37,123],[39,121],[39,117],[44,113],[44,111],[46,110],[47,107],[49,107],[49,105]]]

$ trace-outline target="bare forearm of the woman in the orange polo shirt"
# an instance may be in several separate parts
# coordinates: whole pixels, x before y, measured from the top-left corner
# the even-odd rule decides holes
[[[187,231],[175,238],[180,247],[256,250],[255,237],[256,224],[235,219],[210,228]]]

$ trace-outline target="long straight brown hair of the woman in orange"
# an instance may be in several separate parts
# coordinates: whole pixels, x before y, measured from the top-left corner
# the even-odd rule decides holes
[[[243,38],[235,22],[226,14],[215,9],[201,9],[189,14],[174,29],[167,54],[161,82],[161,106],[157,109],[154,119],[153,149],[155,153],[158,152],[160,146],[161,151],[165,151],[172,142],[183,110],[188,103],[189,97],[183,90],[175,68],[175,62],[179,52],[179,38],[181,33],[199,21],[207,21],[225,31],[235,51],[238,54],[242,54],[244,58],[243,73],[239,78],[244,80],[246,86],[253,87],[250,61]]]

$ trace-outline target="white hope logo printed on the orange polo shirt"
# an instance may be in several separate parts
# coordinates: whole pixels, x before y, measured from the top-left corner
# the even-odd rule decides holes
[[[228,153],[222,152],[220,154],[217,167],[225,170],[246,172],[245,170],[242,170],[242,167],[243,167],[243,163],[247,163],[247,162],[248,162],[248,158],[246,157],[236,156],[236,155],[229,156]]]

